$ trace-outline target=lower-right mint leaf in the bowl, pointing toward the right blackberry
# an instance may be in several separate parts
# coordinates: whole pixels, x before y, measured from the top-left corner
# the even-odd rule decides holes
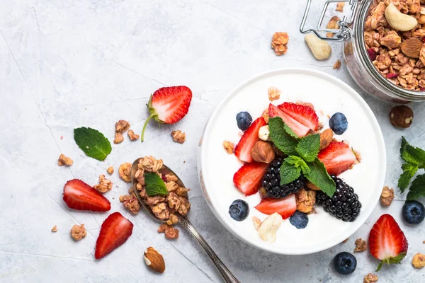
[[[310,168],[310,172],[304,173],[305,177],[329,197],[332,197],[335,192],[335,182],[327,173],[323,163],[316,158],[313,162],[308,162],[307,166]]]

